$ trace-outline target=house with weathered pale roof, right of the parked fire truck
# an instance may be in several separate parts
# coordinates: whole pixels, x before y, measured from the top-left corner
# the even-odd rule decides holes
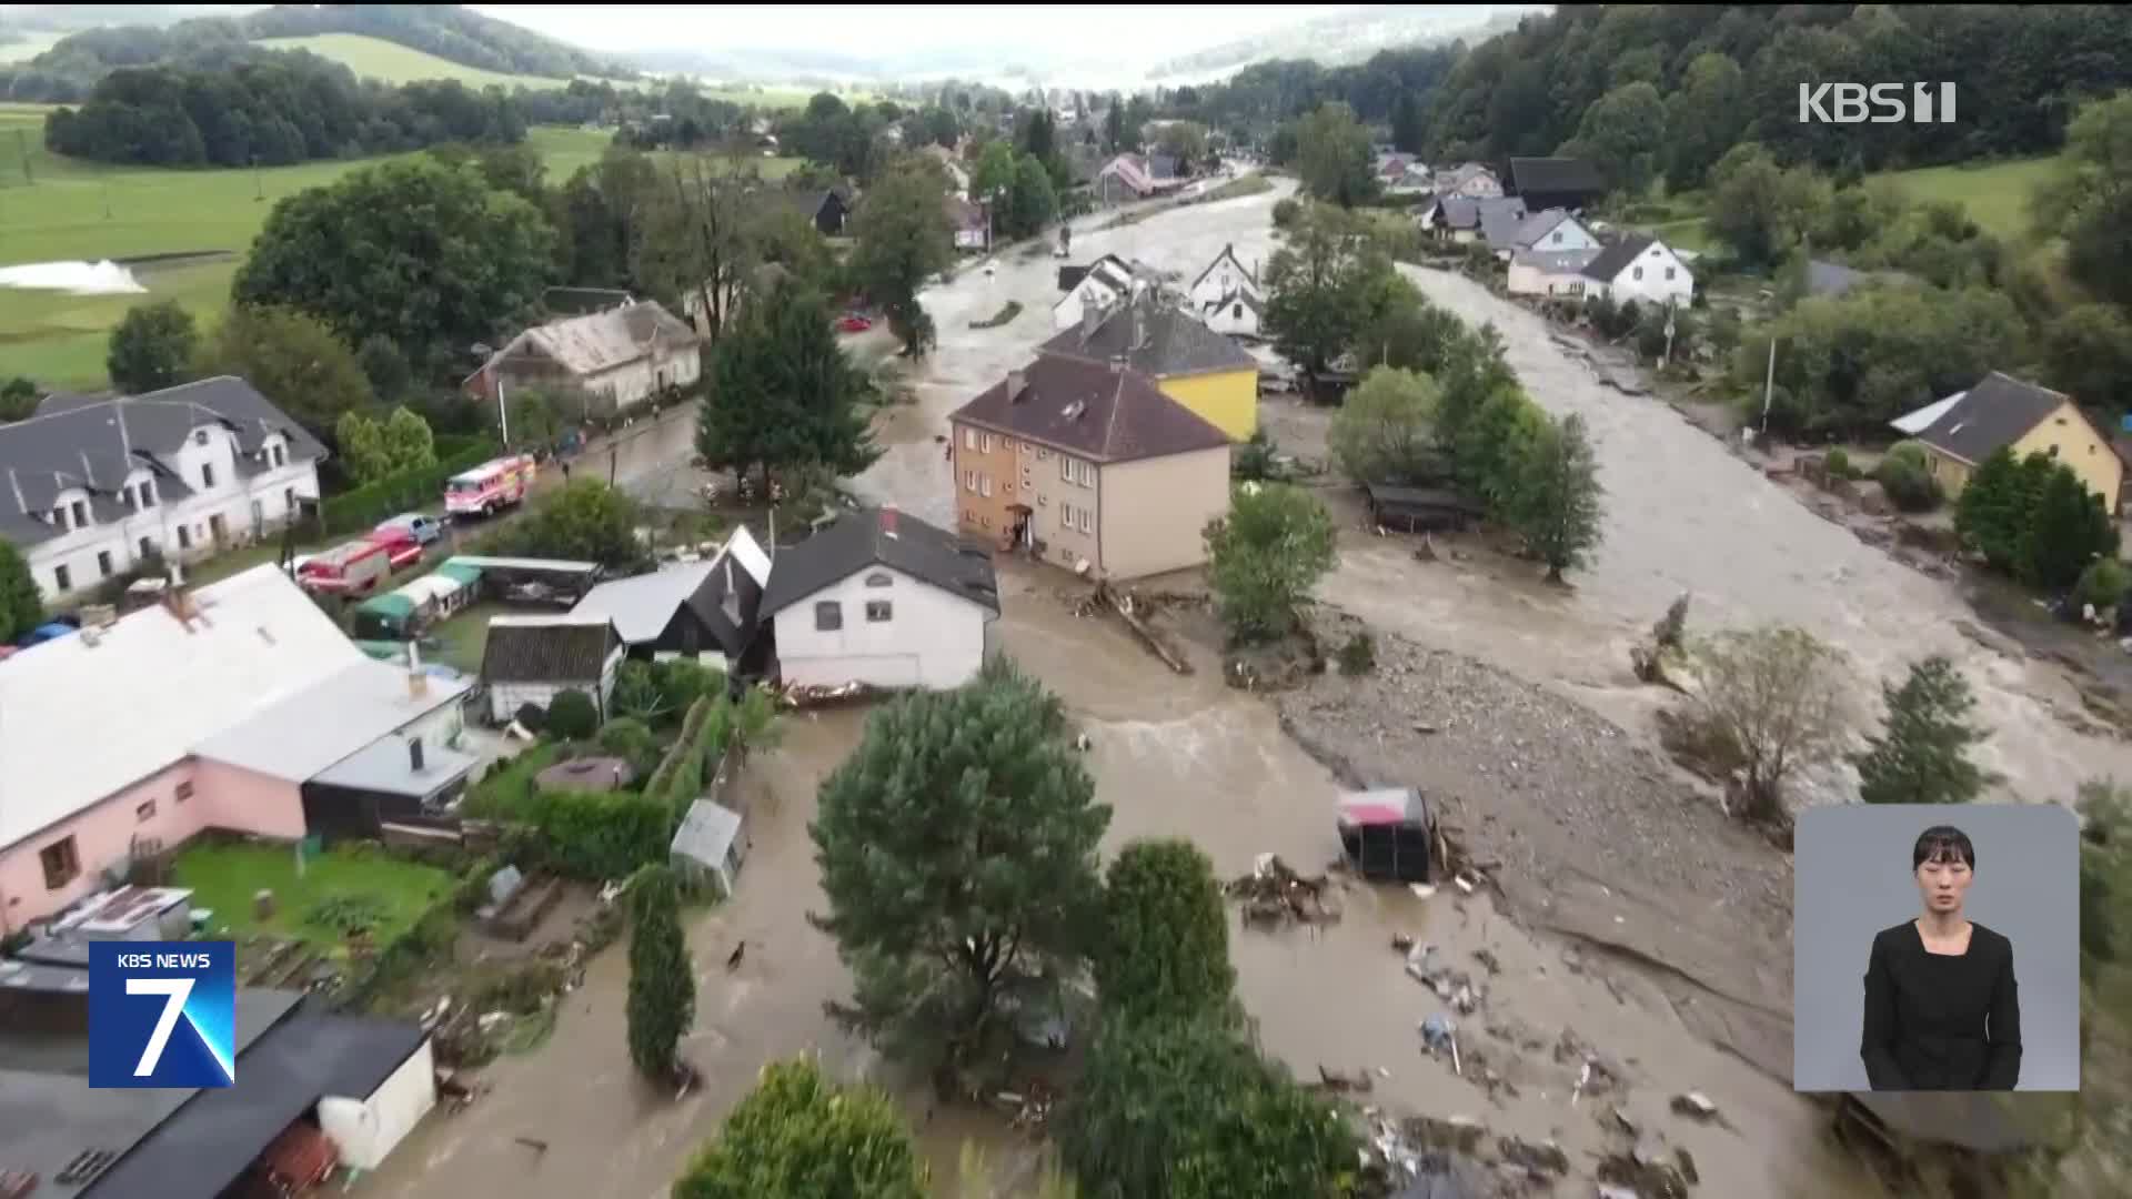
[[[499,386],[505,395],[518,386],[561,388],[578,407],[567,416],[614,416],[663,388],[693,386],[704,373],[701,341],[655,301],[631,301],[527,329],[461,386],[486,403],[497,401]]]

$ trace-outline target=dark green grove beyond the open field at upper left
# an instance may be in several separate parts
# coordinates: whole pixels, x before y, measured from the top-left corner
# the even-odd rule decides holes
[[[136,166],[281,166],[446,141],[514,143],[524,130],[501,90],[384,87],[318,55],[260,51],[213,70],[113,70],[79,109],[51,113],[45,149]]]

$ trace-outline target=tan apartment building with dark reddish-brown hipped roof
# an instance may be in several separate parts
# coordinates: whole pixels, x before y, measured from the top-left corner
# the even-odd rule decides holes
[[[1228,435],[1124,363],[1038,354],[949,429],[962,533],[1068,570],[1198,565],[1228,512]]]

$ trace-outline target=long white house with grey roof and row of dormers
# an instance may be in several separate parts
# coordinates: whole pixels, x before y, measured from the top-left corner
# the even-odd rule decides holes
[[[47,600],[279,529],[318,499],[326,448],[245,380],[132,399],[51,395],[0,425],[0,540]]]

